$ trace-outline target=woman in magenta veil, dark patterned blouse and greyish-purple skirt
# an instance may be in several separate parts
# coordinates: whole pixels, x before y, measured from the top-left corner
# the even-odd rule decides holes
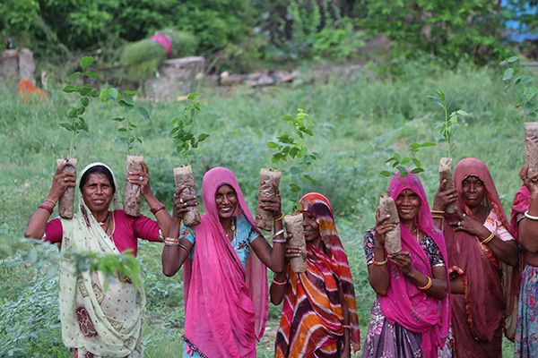
[[[402,251],[389,258],[385,234],[395,224],[376,213],[376,226],[364,235],[370,286],[377,298],[371,309],[362,357],[438,357],[450,317],[447,251],[433,226],[421,180],[395,175],[388,187],[400,218]]]

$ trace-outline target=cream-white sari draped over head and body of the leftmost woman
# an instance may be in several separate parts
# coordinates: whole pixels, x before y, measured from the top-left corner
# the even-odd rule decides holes
[[[105,165],[92,163],[82,170],[79,177],[93,166]],[[116,182],[110,168],[105,167]],[[110,203],[115,208],[121,207],[119,191],[116,191],[115,198]],[[119,254],[114,242],[88,209],[82,191],[79,191],[79,207],[80,211],[72,219],[61,219],[64,237],[59,287],[64,344],[68,348],[78,348],[81,355],[90,352],[107,357],[129,354],[129,357],[142,357],[140,333],[145,307],[143,286],[134,286],[128,277],[117,277],[116,281],[108,280],[108,289],[105,290],[105,275],[100,271],[87,270],[75,276],[74,262],[69,259],[69,255],[65,255],[69,250]],[[141,277],[137,278],[142,282]]]

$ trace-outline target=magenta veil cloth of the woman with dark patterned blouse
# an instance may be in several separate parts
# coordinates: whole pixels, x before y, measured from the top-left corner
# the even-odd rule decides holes
[[[411,172],[405,177],[400,176],[398,172],[390,181],[388,196],[396,200],[404,189],[411,189],[421,198],[421,209],[416,217],[417,225],[437,243],[445,262],[447,262],[445,239],[443,234],[433,226],[430,206],[421,179]],[[423,275],[432,277],[430,260],[422,250],[421,244],[402,223],[400,223],[400,229],[402,251],[410,252],[412,267]],[[421,333],[424,357],[436,358],[438,347],[444,345],[450,325],[450,293],[447,293],[447,296],[439,303],[437,299],[419,290],[410,280],[400,279],[403,274],[392,261],[388,260],[387,265],[390,272],[390,285],[386,295],[379,297],[381,310],[386,320],[389,320],[393,325],[397,322],[404,328]]]

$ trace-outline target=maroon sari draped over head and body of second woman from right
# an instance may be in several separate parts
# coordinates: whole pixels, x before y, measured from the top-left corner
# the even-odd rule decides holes
[[[462,182],[469,175],[478,177],[484,183],[486,195],[482,205],[492,209],[508,228],[508,220],[488,167],[479,159],[465,158],[456,166],[454,181],[458,192],[457,208],[473,217],[462,196]],[[445,214],[443,222],[448,267],[464,280],[464,294],[453,294],[451,298],[455,355],[460,358],[500,357],[505,316],[510,317],[516,310],[516,287],[512,287],[511,283],[512,269],[497,260],[493,252],[474,235],[464,231],[455,232],[449,224],[458,220],[456,214]],[[513,337],[513,329],[508,330],[507,337]]]

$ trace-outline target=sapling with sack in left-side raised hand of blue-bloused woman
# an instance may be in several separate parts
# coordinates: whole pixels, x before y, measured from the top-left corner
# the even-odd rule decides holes
[[[195,113],[200,110],[200,103],[195,100],[197,96],[197,93],[191,93],[187,97],[191,102],[183,110],[182,118],[176,117],[172,120],[173,128],[170,131],[170,136],[176,145],[176,152],[178,153],[180,162],[183,163],[183,165],[174,168],[176,191],[181,186],[185,186],[185,189],[179,193],[180,200],[185,200],[190,196],[197,198],[195,177],[190,166],[190,158],[195,154],[195,149],[198,148],[199,143],[209,137],[207,133],[201,133],[197,137],[194,134]],[[183,224],[189,227],[200,224],[201,218],[198,205],[187,208],[188,211],[183,215]]]

